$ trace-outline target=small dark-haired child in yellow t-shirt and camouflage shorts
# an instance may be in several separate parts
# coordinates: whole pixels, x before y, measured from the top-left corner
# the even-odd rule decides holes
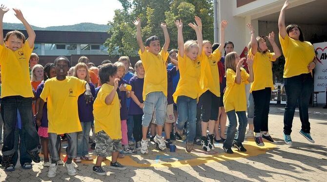
[[[93,172],[105,175],[102,161],[111,155],[110,168],[124,170],[125,166],[117,162],[118,154],[122,150],[122,130],[120,117],[120,102],[117,94],[119,78],[117,66],[112,63],[104,64],[99,71],[102,86],[93,104],[95,152],[97,162]]]

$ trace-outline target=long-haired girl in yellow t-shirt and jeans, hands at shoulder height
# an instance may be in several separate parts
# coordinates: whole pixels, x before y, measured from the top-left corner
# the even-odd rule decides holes
[[[236,52],[228,53],[225,56],[226,68],[226,91],[224,94],[224,106],[229,119],[226,140],[223,148],[226,153],[234,153],[231,149],[235,146],[239,151],[245,152],[246,149],[242,145],[245,137],[247,125],[246,119],[246,96],[245,84],[253,81],[253,56],[250,55],[247,59],[250,74],[246,73],[244,68],[241,68],[245,58],[240,58]],[[235,137],[237,127],[236,114],[239,118],[238,134]]]

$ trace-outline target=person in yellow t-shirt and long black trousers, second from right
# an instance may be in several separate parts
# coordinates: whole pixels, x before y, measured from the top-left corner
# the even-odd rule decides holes
[[[271,88],[274,87],[272,81],[272,61],[275,61],[277,57],[281,55],[274,38],[274,32],[271,32],[269,36],[266,36],[269,40],[274,53],[270,53],[266,45],[266,40],[263,37],[254,36],[254,29],[250,23],[247,27],[251,32],[251,41],[248,44],[249,55],[253,55],[253,73],[254,80],[251,84],[250,92],[254,99],[254,132],[255,143],[258,146],[264,146],[262,139],[274,143],[268,132],[268,114],[269,104],[271,97]]]

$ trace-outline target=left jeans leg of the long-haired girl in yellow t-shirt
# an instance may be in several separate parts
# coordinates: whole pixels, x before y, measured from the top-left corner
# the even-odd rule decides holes
[[[236,120],[236,114],[235,110],[230,110],[226,112],[229,120],[229,124],[227,127],[227,135],[226,135],[226,140],[224,142],[224,146],[226,148],[232,147],[234,138],[235,138],[235,130],[237,126],[237,120]]]

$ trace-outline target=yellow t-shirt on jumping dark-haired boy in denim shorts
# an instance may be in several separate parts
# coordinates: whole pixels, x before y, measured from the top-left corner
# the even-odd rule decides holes
[[[167,96],[167,68],[165,62],[169,54],[162,49],[158,55],[154,55],[144,48],[143,53],[140,49],[139,55],[145,71],[143,100],[145,101],[145,96],[148,93],[154,91],[162,91]]]

